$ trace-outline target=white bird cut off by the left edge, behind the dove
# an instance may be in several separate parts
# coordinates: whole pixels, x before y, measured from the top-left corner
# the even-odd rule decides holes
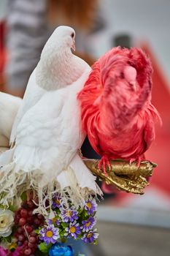
[[[12,124],[22,99],[0,91],[0,147],[9,147]]]

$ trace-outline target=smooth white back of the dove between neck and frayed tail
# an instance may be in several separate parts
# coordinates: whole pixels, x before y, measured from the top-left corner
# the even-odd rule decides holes
[[[66,89],[47,92],[26,112],[17,129],[14,157],[18,170],[57,175],[69,164],[82,143],[72,99]]]

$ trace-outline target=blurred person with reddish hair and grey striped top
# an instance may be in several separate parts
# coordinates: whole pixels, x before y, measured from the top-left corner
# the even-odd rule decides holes
[[[23,96],[28,78],[39,61],[45,42],[54,27],[72,26],[77,32],[77,50],[82,58],[89,31],[103,26],[98,18],[98,0],[7,0],[6,91]]]

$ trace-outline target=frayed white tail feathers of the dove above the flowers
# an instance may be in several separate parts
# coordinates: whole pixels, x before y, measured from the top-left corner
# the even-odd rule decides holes
[[[101,189],[96,184],[96,177],[90,173],[78,154],[75,155],[66,170],[59,175],[56,172],[53,180],[47,178],[47,182],[44,184],[45,173],[41,170],[26,172],[16,167],[17,159],[15,159],[14,152],[15,149],[12,148],[0,156],[0,194],[4,193],[0,203],[6,206],[12,203],[15,197],[19,197],[23,191],[31,188],[36,190],[39,197],[36,212],[43,215],[47,214],[46,200],[51,202],[56,192],[61,195],[63,203],[72,201],[76,208],[82,207],[90,195],[102,195]],[[22,164],[26,165],[26,161]]]

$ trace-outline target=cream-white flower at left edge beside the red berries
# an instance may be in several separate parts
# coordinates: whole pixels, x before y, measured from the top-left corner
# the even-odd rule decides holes
[[[14,225],[14,213],[9,210],[0,209],[0,237],[10,236]]]

